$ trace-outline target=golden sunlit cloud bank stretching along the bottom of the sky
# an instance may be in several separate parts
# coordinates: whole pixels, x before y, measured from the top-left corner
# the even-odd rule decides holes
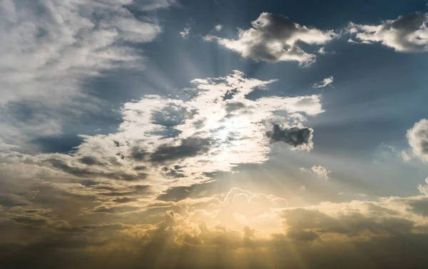
[[[299,208],[275,199],[233,188],[219,197],[149,205],[153,210],[131,223],[121,223],[130,220],[121,209],[101,208],[97,216],[110,220],[105,223],[88,223],[94,215],[86,214],[80,216],[84,223],[71,225],[46,210],[16,208],[1,213],[0,262],[8,268],[243,269],[250,263],[273,269],[302,268],[304,260],[309,269],[335,268],[338,261],[341,267],[423,268],[426,197]],[[116,214],[121,222],[112,219]],[[227,224],[218,222],[223,218]]]

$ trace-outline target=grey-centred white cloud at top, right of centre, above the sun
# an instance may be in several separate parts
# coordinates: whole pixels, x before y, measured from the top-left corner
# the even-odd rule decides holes
[[[309,65],[316,61],[316,56],[302,49],[300,43],[323,45],[337,36],[334,31],[308,28],[293,23],[285,16],[267,12],[260,14],[251,24],[252,28],[239,30],[238,39],[208,35],[205,40],[217,41],[225,48],[255,61],[297,61]]]

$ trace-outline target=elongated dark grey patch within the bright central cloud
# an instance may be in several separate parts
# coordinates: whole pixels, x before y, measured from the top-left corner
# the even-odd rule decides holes
[[[181,141],[179,146],[163,145],[151,153],[152,163],[165,163],[183,158],[198,156],[210,149],[212,141],[209,138],[190,137]]]

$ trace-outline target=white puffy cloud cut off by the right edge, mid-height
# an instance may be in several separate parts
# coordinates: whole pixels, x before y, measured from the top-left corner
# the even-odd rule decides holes
[[[428,162],[428,120],[422,119],[407,130],[412,155]]]

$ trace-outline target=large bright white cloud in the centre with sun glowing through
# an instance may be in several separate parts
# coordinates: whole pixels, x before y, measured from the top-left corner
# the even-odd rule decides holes
[[[294,135],[282,139],[280,132],[275,142],[292,150],[310,150],[313,130],[302,123],[323,112],[320,96],[245,98],[256,88],[267,91],[273,82],[247,78],[240,71],[195,79],[195,88],[183,90],[187,100],[151,95],[125,103],[118,132],[81,136],[83,143],[71,155],[9,152],[4,153],[4,162],[19,165],[31,160],[63,177],[104,184],[133,186],[143,181],[150,186],[146,196],[150,200],[168,188],[210,179],[205,173],[267,161],[272,124],[288,133],[309,131],[310,141],[300,142]],[[275,111],[284,111],[285,116],[275,116]]]

